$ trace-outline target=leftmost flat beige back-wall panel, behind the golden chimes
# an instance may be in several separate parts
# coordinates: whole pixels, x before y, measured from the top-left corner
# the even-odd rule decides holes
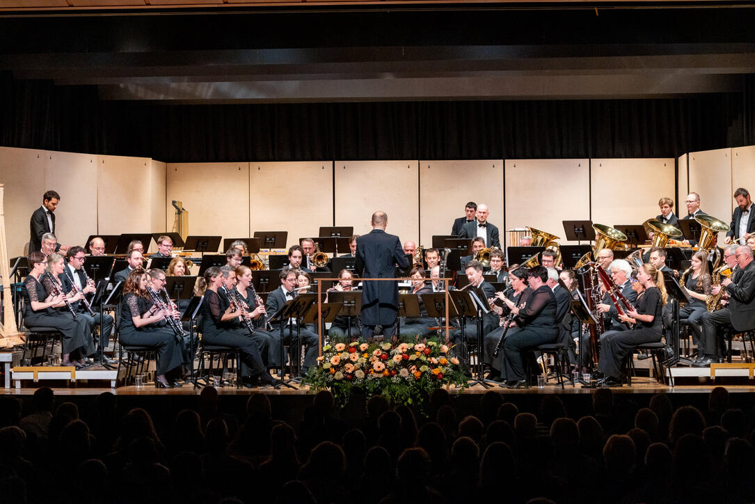
[[[175,213],[171,201],[177,199],[189,210],[189,234],[248,237],[248,162],[168,163],[165,171],[169,227]]]

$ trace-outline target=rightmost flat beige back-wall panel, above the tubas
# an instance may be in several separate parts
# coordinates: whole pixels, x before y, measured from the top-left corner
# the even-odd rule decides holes
[[[660,213],[658,199],[673,199],[676,190],[673,158],[592,159],[591,167],[596,224],[642,224]]]

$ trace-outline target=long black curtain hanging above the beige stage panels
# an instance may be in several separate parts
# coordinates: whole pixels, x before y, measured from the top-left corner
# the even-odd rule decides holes
[[[165,162],[676,157],[755,144],[743,93],[653,100],[189,105],[0,75],[0,145]]]

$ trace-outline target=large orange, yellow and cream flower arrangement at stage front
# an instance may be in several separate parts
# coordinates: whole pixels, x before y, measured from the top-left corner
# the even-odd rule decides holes
[[[304,379],[310,389],[325,388],[343,406],[356,391],[383,394],[393,404],[421,407],[443,385],[467,386],[459,360],[447,345],[424,343],[339,342],[322,347],[317,366]]]

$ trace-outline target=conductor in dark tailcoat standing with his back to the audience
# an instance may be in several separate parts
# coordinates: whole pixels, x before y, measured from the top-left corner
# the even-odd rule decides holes
[[[406,271],[411,261],[404,254],[401,240],[385,232],[388,216],[372,214],[372,230],[356,239],[355,271],[364,278],[391,278],[396,265]],[[375,326],[383,335],[393,337],[399,313],[399,286],[396,282],[365,282],[362,291],[362,336],[371,339]]]

